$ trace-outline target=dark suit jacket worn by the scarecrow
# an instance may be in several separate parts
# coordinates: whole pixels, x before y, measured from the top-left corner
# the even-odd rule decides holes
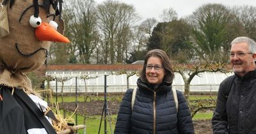
[[[0,133],[26,134],[33,128],[45,128],[49,134],[56,133],[28,94],[17,88],[12,94],[11,90],[10,87],[0,86],[0,94],[3,97],[3,100],[0,100]]]

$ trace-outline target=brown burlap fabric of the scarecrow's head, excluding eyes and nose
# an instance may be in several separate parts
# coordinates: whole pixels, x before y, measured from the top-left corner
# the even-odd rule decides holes
[[[41,5],[43,2],[38,1]],[[16,0],[12,8],[9,8],[9,4],[7,11],[10,34],[0,38],[0,84],[30,90],[30,80],[24,73],[36,70],[44,64],[51,42],[36,40],[35,28],[29,25],[29,18],[34,15],[34,8],[29,8],[19,22],[22,12],[33,5],[32,0]],[[50,12],[55,13],[54,10]],[[39,17],[46,23],[53,19],[47,17],[47,11],[42,7],[39,7]],[[57,18],[55,20],[58,20]]]

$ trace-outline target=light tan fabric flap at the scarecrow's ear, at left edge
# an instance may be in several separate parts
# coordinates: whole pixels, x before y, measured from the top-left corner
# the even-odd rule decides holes
[[[0,3],[0,37],[10,34],[8,17],[7,17],[7,8]]]

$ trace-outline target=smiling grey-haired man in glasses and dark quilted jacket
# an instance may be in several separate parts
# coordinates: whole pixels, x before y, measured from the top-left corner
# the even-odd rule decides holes
[[[235,74],[220,84],[213,133],[256,133],[256,43],[237,37],[229,55]]]

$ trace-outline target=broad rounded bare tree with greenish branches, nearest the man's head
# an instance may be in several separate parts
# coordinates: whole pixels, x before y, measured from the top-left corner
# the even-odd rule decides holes
[[[205,4],[188,17],[188,22],[192,27],[197,56],[200,59],[222,60],[221,57],[225,57],[230,48],[230,41],[236,36],[235,29],[229,29],[237,24],[236,16],[230,9],[222,4]]]

